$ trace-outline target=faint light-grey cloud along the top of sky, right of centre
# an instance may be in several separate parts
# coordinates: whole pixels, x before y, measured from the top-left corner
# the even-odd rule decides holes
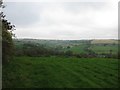
[[[63,3],[64,8],[67,11],[73,13],[80,13],[82,11],[94,9],[94,10],[101,10],[104,9],[106,2],[69,2]]]

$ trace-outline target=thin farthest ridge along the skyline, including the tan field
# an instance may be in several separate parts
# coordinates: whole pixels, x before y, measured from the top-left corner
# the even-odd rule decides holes
[[[80,43],[89,43],[91,44],[119,44],[120,40],[117,39],[93,39],[93,40],[45,40],[45,39],[14,39],[18,42],[33,42],[40,44],[49,44],[49,45],[65,45],[65,44],[80,44]]]

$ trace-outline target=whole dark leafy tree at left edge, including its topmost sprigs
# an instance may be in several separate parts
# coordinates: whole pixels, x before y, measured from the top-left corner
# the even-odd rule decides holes
[[[0,1],[0,9],[5,8],[3,5],[3,1]],[[14,29],[14,25],[11,24],[8,20],[6,20],[6,15],[1,11],[0,12],[0,22],[1,24],[1,31],[2,31],[2,63],[5,64],[9,62],[11,57],[13,56],[13,41],[12,36],[14,34],[12,33]]]

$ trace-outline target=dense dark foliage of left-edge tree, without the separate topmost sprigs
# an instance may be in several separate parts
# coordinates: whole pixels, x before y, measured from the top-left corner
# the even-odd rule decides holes
[[[12,33],[8,30],[12,30],[11,25],[6,24],[7,20],[2,20],[2,62],[7,63],[13,56],[13,41]]]

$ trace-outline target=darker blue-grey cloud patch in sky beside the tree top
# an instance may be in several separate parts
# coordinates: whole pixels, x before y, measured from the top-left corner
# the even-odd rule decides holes
[[[18,27],[26,27],[39,21],[39,8],[31,2],[7,2],[4,13]]]

